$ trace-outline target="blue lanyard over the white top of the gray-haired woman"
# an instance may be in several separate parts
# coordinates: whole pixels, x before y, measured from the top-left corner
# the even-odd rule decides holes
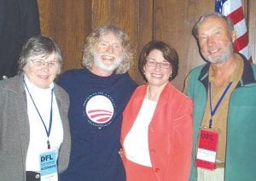
[[[26,86],[26,82],[25,82],[24,79],[23,79],[23,82],[24,82],[24,84],[25,84],[25,86]],[[27,86],[26,86],[26,90],[27,90],[27,92],[29,93],[30,98],[32,99],[32,94],[29,92],[29,89],[27,88]],[[45,129],[45,132],[46,132],[46,135],[47,135],[47,147],[48,147],[48,149],[50,149],[49,134],[50,134],[51,125],[52,125],[52,102],[53,102],[53,88],[51,89],[51,99],[50,99],[49,130],[47,130],[46,125],[45,125],[45,123],[44,123],[44,120],[43,120],[43,118],[42,118],[42,116],[40,115],[40,112],[39,112],[39,110],[38,110],[38,107],[37,107],[37,105],[35,104],[34,99],[32,99],[32,103],[33,103],[33,105],[35,106],[35,108],[36,108],[36,110],[37,110],[37,112],[38,112],[38,116],[40,117],[41,122],[42,122],[43,125],[44,125],[44,129]]]

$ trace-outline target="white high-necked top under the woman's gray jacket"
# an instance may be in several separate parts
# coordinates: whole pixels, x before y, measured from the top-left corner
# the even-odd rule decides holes
[[[30,140],[26,154],[26,171],[39,172],[40,171],[40,154],[47,151],[47,133],[44,128],[44,124],[49,131],[49,116],[50,116],[50,105],[51,105],[51,90],[54,87],[54,83],[51,83],[49,88],[43,89],[38,88],[24,76],[26,86],[26,101],[27,101],[27,114],[29,121]],[[30,94],[32,95],[32,98]],[[44,121],[41,121],[38,111]],[[51,149],[59,150],[63,141],[63,127],[61,122],[60,112],[56,103],[55,94],[53,93],[52,103],[52,126],[49,134],[49,143]]]

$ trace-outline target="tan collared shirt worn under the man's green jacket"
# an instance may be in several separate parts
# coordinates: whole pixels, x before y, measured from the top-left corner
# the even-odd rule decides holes
[[[233,90],[236,88],[237,83],[241,79],[241,74],[243,71],[243,62],[240,59],[237,59],[236,69],[233,72],[232,76],[229,77],[227,82],[224,83],[221,87],[217,87],[214,78],[212,76],[212,68],[210,66],[209,70],[209,82],[211,82],[211,91],[212,91],[212,110],[216,107],[218,100],[221,95],[224,93],[224,89],[227,88],[228,84],[232,82],[231,87],[228,92],[225,94],[224,99],[218,106],[215,114],[211,116],[210,108],[210,95],[209,90],[207,93],[207,107],[203,116],[203,121],[201,122],[201,127],[209,127],[209,120],[212,118],[212,129],[218,130],[219,140],[218,140],[218,152],[217,152],[217,161],[225,161],[225,150],[226,150],[226,128],[227,128],[227,117],[229,112],[229,103],[230,95]]]

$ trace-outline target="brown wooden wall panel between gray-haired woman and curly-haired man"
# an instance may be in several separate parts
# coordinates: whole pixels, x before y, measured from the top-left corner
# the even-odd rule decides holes
[[[84,37],[91,31],[91,1],[38,0],[42,34],[61,46],[64,66],[81,67]]]

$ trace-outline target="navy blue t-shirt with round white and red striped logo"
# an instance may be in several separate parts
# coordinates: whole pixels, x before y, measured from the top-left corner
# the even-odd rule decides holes
[[[123,181],[119,136],[125,105],[137,87],[128,73],[67,71],[57,82],[70,97],[71,156],[61,181]]]

